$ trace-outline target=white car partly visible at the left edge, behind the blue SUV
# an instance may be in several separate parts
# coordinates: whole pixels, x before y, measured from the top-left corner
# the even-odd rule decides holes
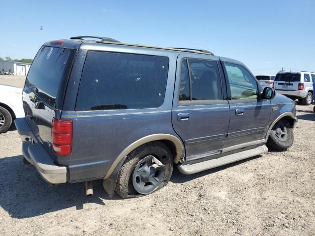
[[[0,133],[10,128],[13,119],[24,117],[22,90],[0,85]]]

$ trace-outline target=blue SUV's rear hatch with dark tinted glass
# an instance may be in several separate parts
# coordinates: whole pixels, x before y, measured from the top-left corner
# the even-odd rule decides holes
[[[59,118],[76,49],[42,46],[26,78],[23,108],[33,133],[51,147],[53,118]]]

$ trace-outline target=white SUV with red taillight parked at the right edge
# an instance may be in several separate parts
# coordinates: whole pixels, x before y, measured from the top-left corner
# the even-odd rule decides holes
[[[308,71],[278,72],[275,78],[275,89],[292,99],[299,99],[304,105],[313,102],[313,82],[315,73]]]

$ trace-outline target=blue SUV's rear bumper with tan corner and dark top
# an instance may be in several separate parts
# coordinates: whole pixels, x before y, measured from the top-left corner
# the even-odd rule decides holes
[[[15,119],[15,126],[22,138],[22,152],[24,157],[35,166],[38,173],[49,183],[65,183],[67,168],[57,166],[48,153],[38,142],[25,118]]]

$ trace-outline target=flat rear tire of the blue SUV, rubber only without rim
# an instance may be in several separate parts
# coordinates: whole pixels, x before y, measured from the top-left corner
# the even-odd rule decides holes
[[[159,141],[144,144],[127,155],[127,158],[119,171],[115,190],[122,198],[143,196],[134,189],[132,184],[132,174],[137,163],[148,155],[153,155],[165,165],[165,175],[163,180],[154,191],[164,187],[170,180],[173,172],[173,154],[169,148]]]

